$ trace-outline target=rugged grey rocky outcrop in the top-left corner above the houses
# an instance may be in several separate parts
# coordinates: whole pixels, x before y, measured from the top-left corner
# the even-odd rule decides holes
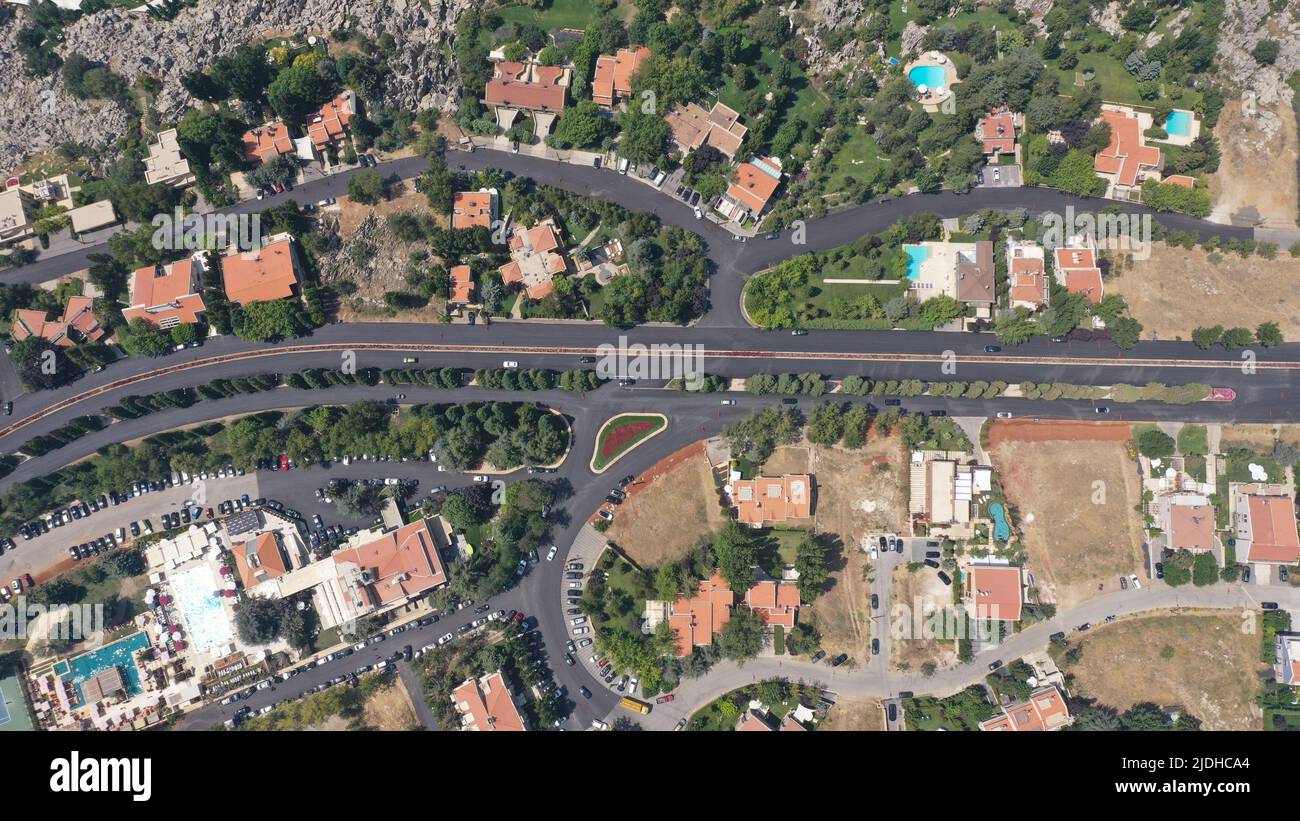
[[[391,34],[398,48],[389,60],[387,103],[406,109],[443,107],[458,92],[455,69],[447,47],[455,36],[459,16],[476,0],[199,0],[172,21],[160,21],[122,9],[90,14],[68,27],[60,52],[77,52],[108,64],[134,79],[152,75],[161,81],[157,95],[160,120],[176,121],[191,104],[181,77],[202,69],[235,47],[272,36],[328,35],[352,29],[369,38]],[[0,31],[0,104],[8,112],[23,112],[14,135],[6,127],[0,138],[0,165],[12,168],[34,148],[75,140],[103,144],[122,134],[125,113],[109,110],[100,118],[66,104],[70,97],[53,78],[27,81],[21,56],[12,48],[22,23],[20,16]],[[8,81],[8,82],[5,82]],[[36,83],[36,86],[31,86]],[[32,110],[42,88],[55,91],[55,113]]]

